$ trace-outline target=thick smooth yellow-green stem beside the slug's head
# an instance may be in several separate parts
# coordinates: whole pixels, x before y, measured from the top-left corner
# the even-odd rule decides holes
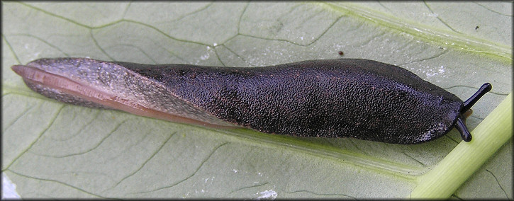
[[[478,170],[513,134],[512,93],[432,170],[420,176],[410,197],[447,198]]]

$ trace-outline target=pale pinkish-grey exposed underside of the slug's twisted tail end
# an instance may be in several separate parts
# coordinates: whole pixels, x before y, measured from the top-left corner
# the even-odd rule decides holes
[[[181,100],[174,98],[172,94],[168,94],[165,88],[158,88],[160,87],[159,83],[146,79],[145,77],[135,74],[121,66],[112,63],[101,63],[96,60],[89,60],[89,64],[83,64],[84,67],[82,67],[83,69],[90,70],[89,76],[80,76],[76,73],[79,67],[69,65],[69,67],[65,68],[65,65],[69,64],[67,61],[68,60],[66,59],[36,60],[35,62],[31,62],[27,65],[14,65],[11,69],[16,72],[16,74],[19,74],[27,86],[33,91],[63,103],[91,108],[122,110],[127,113],[145,117],[153,117],[171,122],[196,124],[214,128],[236,127],[235,125],[223,122],[223,120],[218,120],[216,117],[202,115],[203,113],[201,112],[198,112],[200,115],[194,113],[196,111],[194,110],[195,108],[191,109],[193,112],[177,114],[165,110],[168,109],[165,107],[167,105],[164,105],[164,109],[162,109],[160,108],[162,105],[158,105],[158,103],[148,103],[151,100],[155,100],[155,98],[161,98],[159,100],[164,100],[161,101],[163,104],[181,104],[177,107],[182,108],[187,108],[189,106],[186,105],[185,101],[178,103]],[[77,59],[69,59],[69,61],[76,62]],[[110,85],[104,84],[104,86],[98,86],[98,84],[102,83],[102,80],[96,78],[101,78],[104,71],[97,72],[91,69],[106,68],[104,67],[106,64],[110,65],[107,70],[115,68],[119,69],[118,71],[107,72],[118,74],[114,74],[116,79],[109,79],[109,82],[105,82],[110,83]],[[48,65],[48,67],[41,67],[43,65]],[[65,67],[62,67],[63,65]],[[62,69],[65,69],[66,72],[63,72],[64,70]],[[57,71],[57,73],[55,71]],[[72,74],[72,76],[69,76],[69,74]],[[133,75],[133,77],[127,78],[125,77],[125,74]],[[138,83],[138,86],[141,88],[137,88],[138,86],[133,85],[133,83]],[[115,91],[113,88],[123,88],[123,91]],[[145,91],[144,89],[147,90]],[[155,91],[150,91],[152,89]],[[157,91],[157,89],[162,90]],[[162,96],[164,96],[164,98],[162,98]],[[197,116],[203,117],[203,119],[196,118]]]

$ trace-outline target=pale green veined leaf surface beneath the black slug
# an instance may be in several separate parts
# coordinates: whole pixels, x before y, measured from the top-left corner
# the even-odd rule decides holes
[[[66,105],[9,68],[42,57],[228,67],[374,59],[464,100],[490,82],[470,130],[512,91],[510,3],[2,1],[2,17],[2,171],[21,197],[409,197],[461,142],[456,130],[397,145]],[[513,199],[507,140],[452,197]]]

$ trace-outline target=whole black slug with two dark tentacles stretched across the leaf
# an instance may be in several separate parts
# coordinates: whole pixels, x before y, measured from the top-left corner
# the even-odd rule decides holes
[[[86,58],[15,65],[34,91],[58,101],[211,127],[247,127],[298,137],[426,142],[456,127],[491,90],[467,101],[412,72],[367,59],[323,59],[270,67],[134,64]]]

